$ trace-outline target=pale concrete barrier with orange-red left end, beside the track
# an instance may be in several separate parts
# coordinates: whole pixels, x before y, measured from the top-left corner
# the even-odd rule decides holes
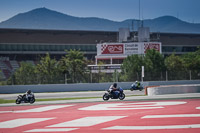
[[[199,93],[200,84],[191,85],[168,85],[147,88],[148,96],[164,95],[164,94],[183,94],[183,93]]]

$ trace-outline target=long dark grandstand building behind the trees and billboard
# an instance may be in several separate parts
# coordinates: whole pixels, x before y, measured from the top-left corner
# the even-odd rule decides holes
[[[130,34],[137,36],[137,32]],[[19,68],[20,61],[36,64],[46,53],[60,59],[66,54],[65,50],[76,49],[83,52],[87,59],[95,61],[97,44],[119,42],[119,39],[117,31],[0,29],[1,77],[8,78]],[[165,56],[184,54],[197,50],[200,34],[151,33],[149,41],[161,42],[161,51]]]

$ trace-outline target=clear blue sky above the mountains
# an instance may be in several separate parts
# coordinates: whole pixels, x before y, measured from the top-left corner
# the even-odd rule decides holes
[[[200,23],[200,0],[0,0],[0,22],[41,7],[76,17],[113,21],[170,15]]]

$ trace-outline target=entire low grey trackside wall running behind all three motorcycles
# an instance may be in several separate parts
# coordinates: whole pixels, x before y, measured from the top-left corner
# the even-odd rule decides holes
[[[79,83],[79,84],[48,84],[48,85],[6,85],[0,86],[0,94],[24,93],[28,89],[35,93],[39,92],[70,92],[70,91],[104,91],[113,83]],[[118,86],[129,89],[132,82],[119,82]],[[182,85],[200,84],[200,80],[188,81],[153,81],[143,82],[143,86],[157,85]]]

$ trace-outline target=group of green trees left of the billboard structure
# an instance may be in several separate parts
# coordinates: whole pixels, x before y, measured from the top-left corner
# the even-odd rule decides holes
[[[7,80],[6,84],[60,84],[85,82],[84,72],[87,60],[79,50],[66,51],[60,60],[47,53],[37,65],[21,62],[20,67]]]

